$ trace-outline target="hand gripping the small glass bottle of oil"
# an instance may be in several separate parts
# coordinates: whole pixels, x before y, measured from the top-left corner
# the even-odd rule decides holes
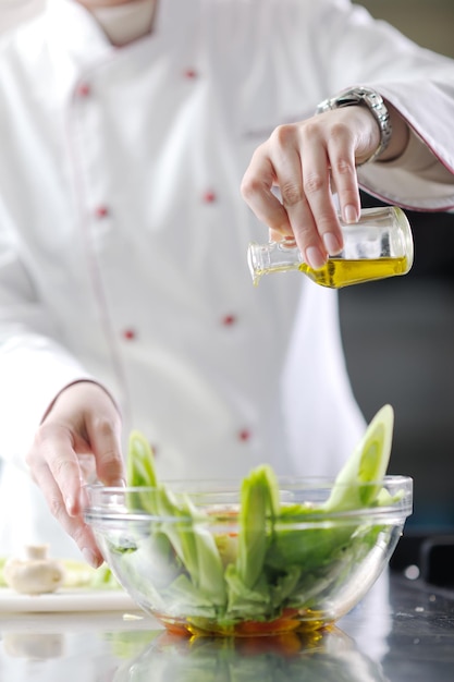
[[[295,124],[280,125],[260,145],[243,179],[242,194],[270,228],[273,241],[292,236],[305,261],[320,268],[342,251],[333,202],[335,188],[345,222],[359,218],[356,166],[380,144],[380,131],[366,107],[345,107]],[[281,200],[273,194],[278,186]]]

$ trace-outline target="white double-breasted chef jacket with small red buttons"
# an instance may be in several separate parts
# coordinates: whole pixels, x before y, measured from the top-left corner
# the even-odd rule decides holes
[[[299,273],[253,287],[247,244],[267,230],[241,179],[275,125],[356,83],[453,169],[453,74],[346,0],[161,0],[152,34],[121,49],[82,5],[50,0],[3,38],[1,553],[48,541],[77,555],[24,455],[81,378],[115,395],[125,437],[146,434],[162,477],[240,477],[262,462],[338,472],[364,421],[336,294]],[[404,206],[454,205],[452,178],[361,173]]]

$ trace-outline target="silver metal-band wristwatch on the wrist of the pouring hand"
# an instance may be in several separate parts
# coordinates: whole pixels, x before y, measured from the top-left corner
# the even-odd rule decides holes
[[[383,101],[382,96],[372,90],[370,87],[357,86],[347,88],[331,97],[324,99],[316,109],[316,113],[323,113],[323,111],[332,111],[333,109],[340,109],[341,107],[367,107],[373,118],[376,119],[380,127],[380,144],[376,151],[364,163],[375,161],[390,144],[392,135],[392,126],[390,121],[390,113]]]

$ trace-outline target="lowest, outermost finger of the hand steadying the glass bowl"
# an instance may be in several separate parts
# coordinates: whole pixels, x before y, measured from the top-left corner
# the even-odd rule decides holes
[[[35,480],[42,490],[52,516],[75,540],[85,560],[94,568],[101,565],[103,558],[96,544],[91,528],[87,526],[82,515],[70,516],[68,514],[61,490],[45,462],[35,470]]]

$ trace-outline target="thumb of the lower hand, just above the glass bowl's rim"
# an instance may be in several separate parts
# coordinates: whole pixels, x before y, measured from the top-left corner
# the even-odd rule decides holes
[[[124,461],[118,423],[109,418],[90,419],[87,422],[87,436],[96,459],[99,480],[107,486],[124,485]]]

